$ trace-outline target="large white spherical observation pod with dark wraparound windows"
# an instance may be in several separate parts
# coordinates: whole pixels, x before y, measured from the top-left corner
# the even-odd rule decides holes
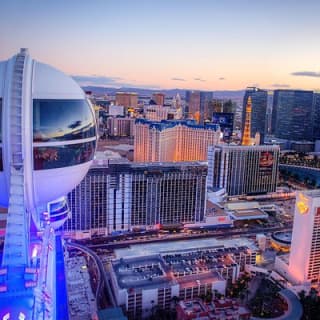
[[[0,62],[0,206],[8,205],[13,143],[18,139],[12,130],[13,110],[18,110],[12,107],[19,90],[16,57]],[[28,54],[20,91],[26,205],[32,209],[80,183],[93,159],[96,124],[78,84]]]

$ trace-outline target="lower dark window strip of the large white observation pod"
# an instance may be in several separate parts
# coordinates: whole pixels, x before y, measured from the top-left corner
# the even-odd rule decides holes
[[[96,141],[33,148],[35,170],[57,169],[75,166],[93,159]]]

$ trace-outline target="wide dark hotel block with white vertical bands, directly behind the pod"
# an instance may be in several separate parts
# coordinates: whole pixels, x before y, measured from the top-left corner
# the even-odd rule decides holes
[[[76,237],[123,232],[155,224],[197,223],[204,218],[204,163],[121,163],[94,160],[69,194]]]

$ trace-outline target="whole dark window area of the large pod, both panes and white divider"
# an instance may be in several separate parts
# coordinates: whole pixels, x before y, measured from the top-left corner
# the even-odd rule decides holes
[[[88,162],[95,145],[96,124],[86,100],[33,100],[34,170]]]

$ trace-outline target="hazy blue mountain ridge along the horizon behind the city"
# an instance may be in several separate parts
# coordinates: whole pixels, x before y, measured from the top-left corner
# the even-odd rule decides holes
[[[92,91],[94,94],[98,95],[115,95],[116,92],[136,92],[139,96],[151,96],[152,93],[154,92],[162,92],[164,93],[167,97],[173,97],[177,93],[184,98],[185,92],[187,90],[184,89],[169,89],[169,90],[156,90],[156,89],[142,89],[142,88],[126,88],[126,87],[121,87],[121,88],[111,88],[111,87],[95,87],[95,86],[85,86],[82,87],[84,91]],[[212,91],[213,96],[215,98],[220,98],[220,99],[242,99],[244,95],[244,90],[216,90]]]

